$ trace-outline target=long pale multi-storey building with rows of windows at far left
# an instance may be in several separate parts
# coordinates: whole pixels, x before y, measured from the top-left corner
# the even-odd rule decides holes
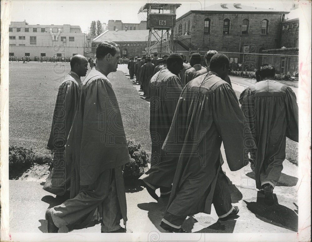
[[[9,25],[9,55],[74,56],[83,55],[85,34],[76,25],[29,25],[26,21]]]

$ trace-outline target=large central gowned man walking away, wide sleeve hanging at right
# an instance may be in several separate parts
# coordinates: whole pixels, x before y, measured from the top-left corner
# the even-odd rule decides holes
[[[166,156],[179,157],[160,224],[170,232],[185,232],[181,228],[185,218],[199,212],[210,214],[212,203],[220,220],[239,211],[231,204],[220,147],[223,141],[227,163],[236,171],[248,164],[246,148],[253,147],[254,141],[235,92],[224,81],[229,70],[227,56],[213,56],[210,68],[207,75],[191,80],[183,89],[163,144]]]

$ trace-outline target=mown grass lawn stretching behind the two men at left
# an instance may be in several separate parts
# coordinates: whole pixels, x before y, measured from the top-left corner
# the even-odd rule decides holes
[[[69,63],[11,62],[9,64],[9,143],[48,154],[48,142],[57,90],[70,71]],[[89,73],[90,70],[88,70]],[[151,151],[149,104],[122,71],[110,73],[127,139]],[[84,77],[81,78],[84,80]],[[239,97],[239,92],[236,96]],[[286,159],[298,164],[298,143],[287,138]]]

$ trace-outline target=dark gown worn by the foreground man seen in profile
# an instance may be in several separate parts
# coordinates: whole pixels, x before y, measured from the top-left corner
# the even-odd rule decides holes
[[[74,124],[66,144],[66,160],[73,163],[71,198],[79,193],[80,186],[93,184],[100,173],[115,168],[120,209],[126,221],[120,167],[129,162],[128,146],[114,90],[97,67],[82,83]]]

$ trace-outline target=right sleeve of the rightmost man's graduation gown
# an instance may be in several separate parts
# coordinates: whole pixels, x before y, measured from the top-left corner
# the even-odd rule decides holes
[[[298,104],[296,94],[290,87],[285,90],[285,110],[286,136],[293,141],[299,142]]]

